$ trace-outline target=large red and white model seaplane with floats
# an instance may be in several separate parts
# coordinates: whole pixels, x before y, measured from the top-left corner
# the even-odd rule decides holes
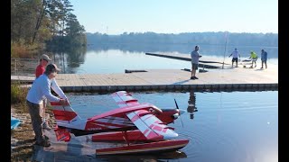
[[[125,142],[112,148],[97,148],[97,155],[152,153],[177,150],[185,147],[189,139],[175,139],[178,134],[168,124],[178,119],[182,112],[176,109],[159,109],[151,103],[138,103],[126,91],[111,94],[120,108],[81,119],[70,103],[52,103],[57,122],[55,129],[59,141],[70,141],[75,136],[93,134],[91,140]]]

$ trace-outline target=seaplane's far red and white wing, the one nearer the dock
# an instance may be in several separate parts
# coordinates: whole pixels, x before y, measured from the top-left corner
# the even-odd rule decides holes
[[[113,99],[117,102],[119,107],[126,107],[140,104],[131,94],[128,94],[126,91],[117,91],[116,93],[111,95]]]

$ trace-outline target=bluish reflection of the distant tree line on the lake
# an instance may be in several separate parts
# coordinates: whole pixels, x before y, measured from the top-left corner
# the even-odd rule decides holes
[[[89,46],[88,50],[94,51],[106,51],[109,49],[119,49],[123,52],[161,52],[161,53],[188,53],[194,48],[194,44],[139,44],[139,43],[128,43],[128,44],[118,44],[118,43],[107,43]],[[268,53],[268,58],[278,58],[278,47],[258,47],[258,46],[227,46],[226,53],[228,55],[231,53],[230,50],[238,48],[241,57],[248,56],[251,50],[260,53],[261,49],[265,49]],[[202,55],[213,55],[223,57],[225,52],[225,45],[200,45],[200,51]],[[227,56],[227,55],[226,55]]]

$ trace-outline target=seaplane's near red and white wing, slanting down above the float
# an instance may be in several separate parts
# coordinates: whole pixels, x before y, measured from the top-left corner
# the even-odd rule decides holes
[[[147,110],[126,113],[146,139],[173,139],[178,134]]]

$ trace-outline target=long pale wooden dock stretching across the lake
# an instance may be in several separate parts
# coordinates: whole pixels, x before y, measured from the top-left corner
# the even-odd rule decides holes
[[[144,69],[147,72],[124,74],[58,74],[57,82],[64,92],[111,93],[126,91],[247,91],[277,90],[278,67],[267,69],[231,67],[197,72],[182,69]],[[11,76],[11,81],[32,83],[34,76]]]

